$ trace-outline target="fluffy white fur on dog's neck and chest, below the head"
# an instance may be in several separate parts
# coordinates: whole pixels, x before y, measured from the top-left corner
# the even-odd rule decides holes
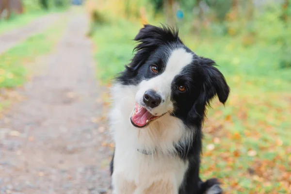
[[[169,179],[176,190],[173,194],[176,194],[188,163],[171,154],[175,152],[174,145],[181,139],[188,141],[190,134],[178,118],[170,115],[162,116],[159,122],[153,122],[144,129],[133,127],[129,117],[135,104],[135,93],[135,86],[113,86],[113,109],[110,113],[110,128],[115,142],[113,187],[118,186],[118,181],[126,180],[136,186],[134,193],[140,194],[153,182]],[[145,155],[137,149],[157,152]]]

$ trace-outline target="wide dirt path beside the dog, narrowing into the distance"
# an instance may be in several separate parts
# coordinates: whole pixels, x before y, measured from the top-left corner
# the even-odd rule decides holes
[[[0,118],[0,194],[99,194],[110,154],[85,16],[74,16],[45,73]],[[95,118],[95,119],[92,119]],[[92,120],[94,122],[92,122]]]

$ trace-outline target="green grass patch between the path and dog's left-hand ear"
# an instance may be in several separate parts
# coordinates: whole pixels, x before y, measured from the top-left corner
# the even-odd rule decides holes
[[[124,29],[129,33],[122,33]],[[132,25],[126,21],[118,21],[99,26],[93,34],[92,38],[97,43],[97,76],[103,83],[110,81],[129,63],[134,46],[132,39],[138,30],[137,23]]]

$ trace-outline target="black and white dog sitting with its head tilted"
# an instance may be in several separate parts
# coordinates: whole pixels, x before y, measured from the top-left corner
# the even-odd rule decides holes
[[[199,165],[207,106],[229,94],[224,76],[171,28],[145,25],[134,40],[112,87],[113,194],[221,194],[217,179],[199,178]]]

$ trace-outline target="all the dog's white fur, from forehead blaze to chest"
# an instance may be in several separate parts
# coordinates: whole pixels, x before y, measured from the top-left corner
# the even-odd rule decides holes
[[[172,52],[160,76],[143,81],[138,86],[113,85],[113,109],[110,113],[110,128],[115,142],[113,194],[122,194],[122,188],[129,187],[133,194],[146,194],[146,189],[159,181],[167,181],[173,186],[169,189],[170,193],[178,194],[188,163],[171,154],[176,150],[174,145],[191,141],[191,130],[185,129],[180,119],[169,114],[152,121],[143,129],[134,127],[129,118],[135,102],[141,100],[141,95],[147,89],[155,89],[164,99],[154,109],[155,113],[173,110],[171,82],[191,61],[192,54],[177,49]],[[137,149],[145,149],[153,154],[145,155]]]

